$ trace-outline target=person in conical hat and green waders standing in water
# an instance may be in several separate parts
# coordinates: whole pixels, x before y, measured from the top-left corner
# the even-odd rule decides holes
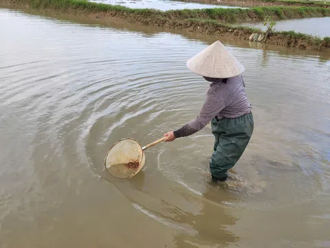
[[[179,130],[164,134],[165,141],[195,134],[211,121],[215,142],[210,172],[214,182],[224,181],[228,169],[241,158],[254,129],[251,105],[241,76],[245,69],[220,41],[189,59],[187,67],[212,82],[210,90],[197,118]]]

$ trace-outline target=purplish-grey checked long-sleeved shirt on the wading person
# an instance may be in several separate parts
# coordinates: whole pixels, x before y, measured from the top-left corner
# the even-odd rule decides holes
[[[237,118],[251,111],[251,105],[244,90],[245,84],[242,76],[235,76],[223,83],[219,79],[210,84],[206,101],[201,112],[194,120],[186,123],[174,132],[176,138],[195,134],[205,127],[212,118]]]

